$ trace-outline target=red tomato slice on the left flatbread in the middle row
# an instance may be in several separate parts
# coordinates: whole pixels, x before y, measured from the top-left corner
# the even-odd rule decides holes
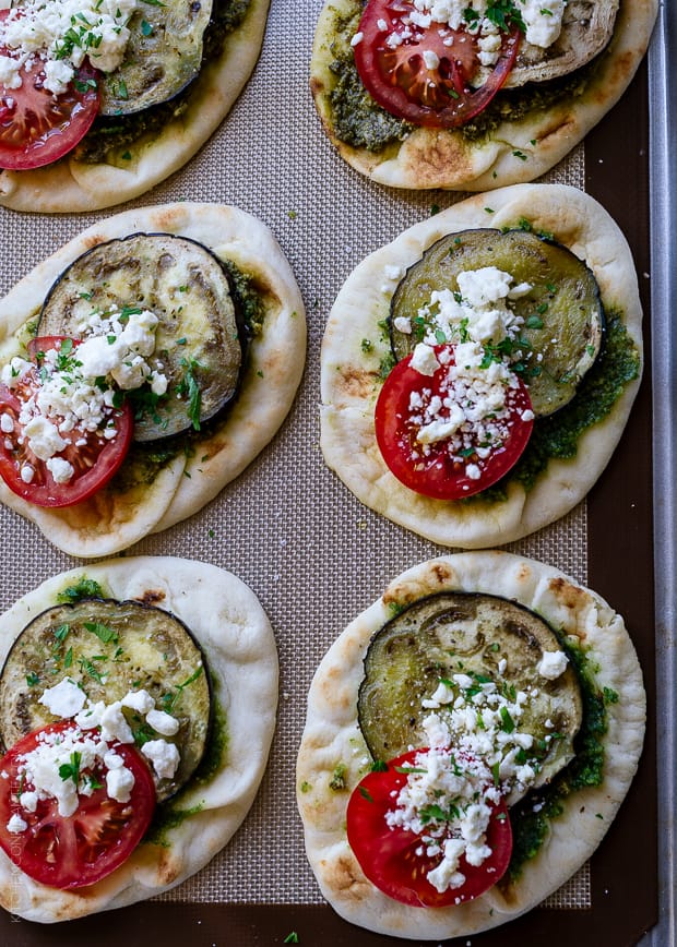
[[[60,347],[64,339],[49,337],[31,341],[28,350],[37,360],[37,353]],[[69,339],[73,346],[78,340]],[[72,478],[66,483],[57,483],[47,468],[46,461],[36,457],[22,436],[22,425],[19,420],[22,405],[39,387],[39,368],[26,374],[15,388],[0,384],[0,421],[3,416],[11,418],[13,431],[0,433],[0,477],[19,496],[38,506],[72,506],[100,490],[127,456],[132,441],[133,418],[127,401],[120,408],[110,412],[115,423],[116,436],[110,440],[103,437],[97,431],[85,431],[75,428],[67,436],[71,443],[58,455],[75,468]],[[24,443],[20,443],[24,441]],[[85,443],[76,444],[75,442]],[[25,465],[33,468],[33,479],[26,483],[22,479]]]

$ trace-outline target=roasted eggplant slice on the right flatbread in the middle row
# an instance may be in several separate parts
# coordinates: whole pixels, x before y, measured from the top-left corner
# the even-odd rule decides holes
[[[463,230],[433,243],[411,266],[391,304],[391,343],[397,360],[414,348],[426,329],[420,311],[433,290],[458,291],[458,275],[496,266],[514,285],[532,289],[510,302],[523,325],[513,362],[528,386],[536,416],[551,415],[575,395],[602,345],[604,309],[592,271],[570,250],[528,230]],[[395,327],[397,316],[412,323],[412,333]],[[454,341],[458,339],[448,339]]]

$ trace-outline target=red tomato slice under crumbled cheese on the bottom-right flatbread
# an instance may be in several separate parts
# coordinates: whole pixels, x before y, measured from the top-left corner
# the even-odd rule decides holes
[[[369,880],[383,894],[412,908],[443,908],[479,897],[506,873],[512,853],[512,828],[508,807],[494,808],[487,828],[491,855],[482,865],[468,865],[462,856],[459,871],[465,883],[459,888],[438,891],[427,878],[442,855],[421,852],[421,837],[406,829],[390,827],[385,814],[394,808],[396,794],[407,774],[396,767],[411,767],[424,751],[412,750],[391,759],[388,769],[368,774],[352,793],[347,808],[348,843]]]

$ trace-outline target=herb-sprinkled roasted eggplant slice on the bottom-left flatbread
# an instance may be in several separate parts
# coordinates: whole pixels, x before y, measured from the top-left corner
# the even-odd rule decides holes
[[[175,735],[179,767],[156,778],[167,799],[194,772],[211,726],[211,683],[202,650],[186,625],[169,612],[135,601],[84,599],[37,615],[14,642],[0,674],[0,739],[4,747],[56,719],[39,698],[63,678],[92,703],[112,704],[145,690],[156,709],[179,721]],[[138,744],[159,738],[143,717],[123,710]]]

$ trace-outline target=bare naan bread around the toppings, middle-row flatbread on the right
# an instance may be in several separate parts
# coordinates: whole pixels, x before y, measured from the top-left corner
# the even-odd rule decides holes
[[[492,213],[487,213],[490,206]],[[502,546],[559,519],[585,496],[623,432],[640,380],[626,386],[611,412],[587,429],[571,460],[550,460],[525,492],[513,482],[504,502],[431,500],[390,472],[376,443],[373,407],[379,363],[389,348],[379,323],[389,313],[395,272],[411,266],[447,233],[515,226],[527,218],[585,260],[607,310],[622,314],[642,351],[642,309],[634,263],[617,224],[593,197],[566,184],[515,184],[478,194],[411,227],[364,260],[348,276],[329,315],[321,348],[321,447],[328,466],[367,506],[441,546]],[[372,343],[364,350],[363,340]]]

